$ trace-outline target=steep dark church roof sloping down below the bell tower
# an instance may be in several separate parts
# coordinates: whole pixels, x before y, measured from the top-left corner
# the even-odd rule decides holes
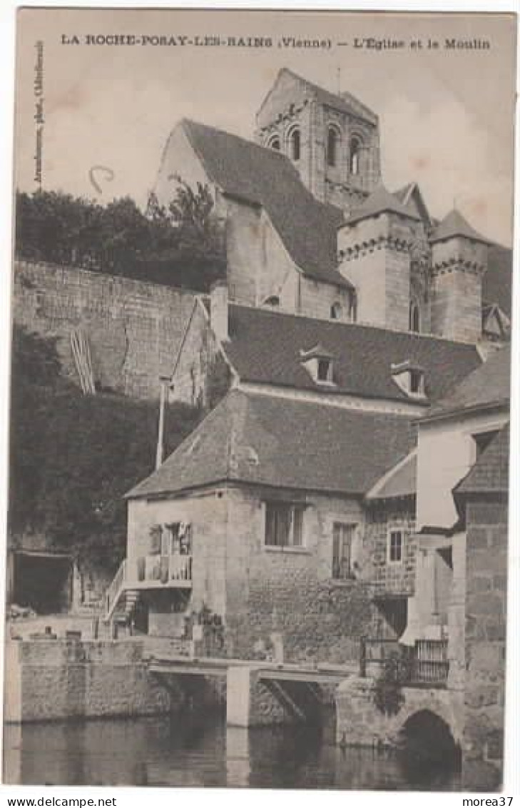
[[[262,205],[305,275],[351,288],[337,269],[342,211],[315,200],[285,155],[193,120],[181,126],[209,179],[229,196]]]

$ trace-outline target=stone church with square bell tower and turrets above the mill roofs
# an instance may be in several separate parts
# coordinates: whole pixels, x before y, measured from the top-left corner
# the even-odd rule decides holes
[[[391,193],[378,116],[282,69],[255,142],[182,120],[161,158],[161,204],[207,184],[224,231],[229,299],[467,343],[507,339],[501,250],[457,210],[430,216],[417,183]]]

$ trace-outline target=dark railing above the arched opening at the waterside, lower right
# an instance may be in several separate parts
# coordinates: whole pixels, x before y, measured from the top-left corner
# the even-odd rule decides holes
[[[416,640],[412,647],[396,640],[361,638],[359,675],[385,675],[411,687],[445,687],[450,663],[447,640]]]

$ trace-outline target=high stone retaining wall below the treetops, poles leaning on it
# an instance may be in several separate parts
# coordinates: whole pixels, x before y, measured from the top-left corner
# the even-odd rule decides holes
[[[172,371],[195,293],[99,272],[15,261],[13,321],[57,338],[65,374],[79,381],[70,337],[88,338],[94,380],[132,398],[158,398]]]

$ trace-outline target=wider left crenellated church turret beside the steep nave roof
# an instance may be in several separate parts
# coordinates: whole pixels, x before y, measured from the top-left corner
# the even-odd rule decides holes
[[[418,221],[380,185],[339,229],[339,270],[356,289],[359,322],[409,329],[410,248]]]

